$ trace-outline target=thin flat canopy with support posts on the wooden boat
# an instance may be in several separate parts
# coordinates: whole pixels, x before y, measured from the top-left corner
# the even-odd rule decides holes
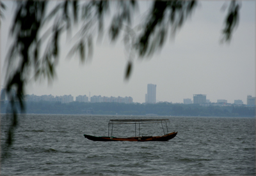
[[[168,134],[168,127],[167,127],[167,122],[170,122],[169,119],[115,119],[115,120],[109,120],[108,122],[108,136],[109,136],[109,132],[110,132],[110,126],[111,128],[111,136],[113,134],[113,125],[114,124],[135,124],[135,136],[136,136],[136,124],[139,125],[139,136],[140,136],[140,124],[150,124],[150,123],[161,123],[162,124],[162,128],[163,128],[163,132],[165,135],[165,131],[164,131],[164,127],[163,127],[163,122],[165,122],[166,124],[166,131]]]

